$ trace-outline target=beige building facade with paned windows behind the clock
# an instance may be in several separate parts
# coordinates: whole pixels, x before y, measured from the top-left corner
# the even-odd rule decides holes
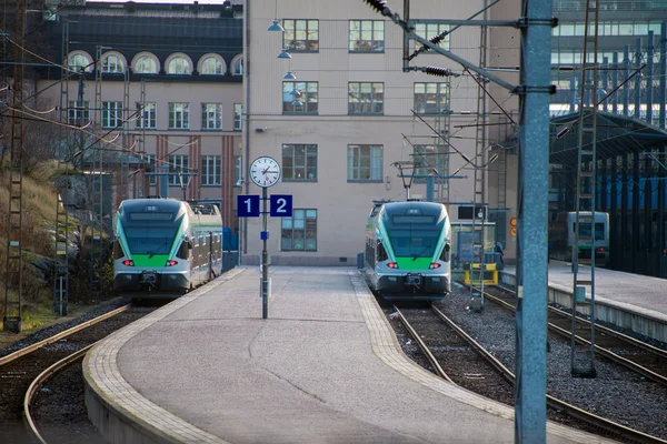
[[[402,2],[394,3],[395,12],[402,16]],[[411,20],[462,20],[485,7],[484,0],[410,3]],[[495,18],[494,13],[488,18]],[[282,32],[268,31],[275,20]],[[446,29],[434,22],[417,24],[417,33],[426,38]],[[494,32],[489,31],[487,46],[494,42]],[[243,161],[249,164],[263,155],[276,159],[282,178],[268,193],[293,196],[291,218],[268,218],[268,252],[273,264],[356,264],[374,201],[406,200],[412,171],[421,176],[409,188],[411,198],[426,199],[425,175],[440,174],[451,178],[436,179],[440,183],[435,185],[435,200],[449,204],[452,221],[458,220],[459,206],[472,205],[477,129],[486,127],[477,124],[477,82],[458,63],[429,51],[409,65],[440,67],[454,75],[404,72],[402,29],[361,0],[253,0],[246,3],[243,34],[248,61]],[[498,64],[505,49],[518,56],[518,32],[505,33],[502,39],[502,46],[490,44],[486,64]],[[461,27],[440,46],[479,64],[480,28]],[[415,48],[410,41],[409,53]],[[278,58],[282,50],[291,58]],[[507,75],[518,80],[516,74]],[[486,121],[505,119],[486,102]],[[508,112],[516,110],[516,99],[509,94],[501,102]],[[506,138],[502,132],[507,130],[486,131],[484,160],[477,164],[488,163],[494,153],[502,154],[501,167],[509,172],[500,179],[514,180],[516,155],[497,147]],[[486,169],[498,168],[494,162]],[[498,210],[498,181],[499,174],[487,171],[485,203],[489,209]],[[242,192],[261,194],[261,189],[245,176]],[[505,208],[496,211],[496,218],[509,231],[516,194],[507,193],[501,201]],[[248,218],[242,225],[242,262],[259,263],[261,218]],[[506,249],[506,256],[511,256],[510,238]]]

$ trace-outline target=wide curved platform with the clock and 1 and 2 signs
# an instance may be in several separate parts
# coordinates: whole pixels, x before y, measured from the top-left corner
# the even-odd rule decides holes
[[[514,408],[401,351],[358,270],[233,269],[98,343],[91,421],[111,443],[514,443]],[[608,443],[548,423],[549,443]]]

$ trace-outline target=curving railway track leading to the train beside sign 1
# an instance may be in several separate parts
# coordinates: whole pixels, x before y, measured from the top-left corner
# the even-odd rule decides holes
[[[44,382],[80,360],[97,341],[152,310],[125,305],[0,357],[0,422],[6,426],[13,425],[10,441],[37,440],[43,443],[30,406]],[[23,415],[32,430],[27,434],[18,430]]]

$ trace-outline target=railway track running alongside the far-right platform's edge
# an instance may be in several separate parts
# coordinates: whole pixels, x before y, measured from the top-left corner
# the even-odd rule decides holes
[[[506,289],[492,289],[485,292],[485,299],[515,313],[516,293]],[[571,337],[569,312],[549,306],[548,329],[563,337]],[[576,342],[590,347],[590,321],[576,317]],[[633,336],[595,325],[595,352],[640,375],[667,386],[667,350],[658,349]]]

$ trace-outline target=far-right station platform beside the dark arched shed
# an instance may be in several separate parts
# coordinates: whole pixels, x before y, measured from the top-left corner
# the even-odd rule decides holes
[[[579,264],[578,280],[590,280],[589,265]],[[548,263],[548,299],[565,307],[573,305],[571,263]],[[499,272],[500,283],[516,286],[516,265]],[[583,285],[586,302],[577,311],[590,315],[590,285]],[[620,271],[595,269],[595,317],[637,334],[667,343],[667,280]]]

